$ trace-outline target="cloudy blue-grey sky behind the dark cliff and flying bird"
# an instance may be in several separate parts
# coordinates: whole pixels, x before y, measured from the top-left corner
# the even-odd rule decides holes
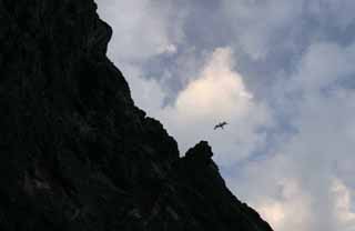
[[[207,140],[275,231],[355,231],[354,0],[97,3],[110,59],[182,154]]]

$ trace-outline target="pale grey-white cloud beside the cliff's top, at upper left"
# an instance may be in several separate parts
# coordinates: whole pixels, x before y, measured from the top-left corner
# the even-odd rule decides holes
[[[109,56],[116,63],[176,52],[183,39],[183,12],[173,1],[100,0],[99,13],[113,28]]]

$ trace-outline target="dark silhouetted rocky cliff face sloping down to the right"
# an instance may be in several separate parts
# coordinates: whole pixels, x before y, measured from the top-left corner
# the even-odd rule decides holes
[[[95,10],[0,0],[0,230],[271,231],[134,107]]]

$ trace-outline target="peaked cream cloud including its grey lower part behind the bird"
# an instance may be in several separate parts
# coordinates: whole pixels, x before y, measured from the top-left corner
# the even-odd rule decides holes
[[[182,152],[207,140],[220,164],[230,165],[265,142],[258,128],[268,124],[268,112],[253,99],[233,66],[230,48],[215,49],[175,103],[153,113],[179,140]],[[224,120],[230,123],[227,128],[214,131],[214,124]]]

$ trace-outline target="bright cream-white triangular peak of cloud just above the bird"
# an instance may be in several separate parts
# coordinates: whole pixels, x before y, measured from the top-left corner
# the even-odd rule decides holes
[[[251,107],[253,96],[245,89],[242,77],[232,71],[231,59],[231,50],[216,49],[200,76],[180,93],[176,110],[189,113],[191,122],[205,116],[242,117]]]

